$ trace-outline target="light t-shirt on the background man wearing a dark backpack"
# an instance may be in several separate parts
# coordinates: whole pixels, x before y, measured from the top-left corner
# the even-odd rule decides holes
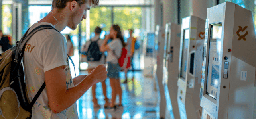
[[[92,38],[91,40],[92,40],[92,41],[96,41],[96,40],[98,40],[98,38],[100,38],[99,35],[98,35],[98,36],[95,36],[95,37]],[[98,40],[97,43],[98,43],[99,48],[100,48],[101,44],[103,43],[103,41],[104,41],[104,40],[102,40],[102,39]],[[87,50],[88,50],[90,44],[91,44],[91,41],[90,41],[90,40],[85,43],[85,52],[87,52]],[[104,63],[105,63],[104,52],[103,52],[103,54],[102,54],[102,56],[101,56],[101,58],[100,58],[99,61],[87,61],[87,63],[88,63],[88,69],[95,68],[95,67],[97,67],[98,65],[104,64]]]

